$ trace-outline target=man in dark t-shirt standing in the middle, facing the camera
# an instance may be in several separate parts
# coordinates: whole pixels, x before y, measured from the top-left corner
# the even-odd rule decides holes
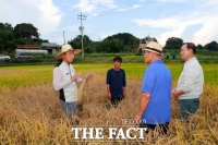
[[[125,71],[120,68],[122,63],[121,57],[113,58],[113,68],[107,73],[107,94],[113,107],[126,97]]]

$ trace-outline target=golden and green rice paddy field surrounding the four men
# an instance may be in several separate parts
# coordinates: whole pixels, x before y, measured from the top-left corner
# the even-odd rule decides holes
[[[75,142],[72,126],[122,126],[122,119],[134,119],[140,102],[144,63],[123,63],[128,98],[111,108],[106,93],[106,73],[112,64],[73,64],[82,75],[93,74],[85,84],[76,116],[65,118],[59,93],[52,87],[53,65],[0,68],[0,145],[74,145],[74,144],[218,144],[218,65],[203,63],[205,75],[201,106],[189,123],[182,122],[178,100],[171,99],[172,119],[168,135],[149,133],[144,141],[104,140]],[[175,87],[182,63],[167,63]],[[80,84],[78,84],[80,87]],[[126,124],[125,126],[126,128]],[[81,134],[80,134],[81,135]]]

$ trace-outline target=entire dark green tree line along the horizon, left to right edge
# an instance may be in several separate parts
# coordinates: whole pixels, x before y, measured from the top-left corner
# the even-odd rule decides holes
[[[17,45],[38,45],[41,43],[49,43],[47,39],[39,38],[40,34],[38,28],[33,24],[22,23],[12,27],[9,23],[0,23],[0,49],[8,52],[14,51]],[[81,35],[68,41],[73,48],[81,48]],[[86,53],[93,52],[135,52],[138,48],[140,43],[146,44],[147,41],[157,41],[155,37],[145,36],[140,39],[129,33],[119,33],[107,38],[94,41],[87,35],[83,36],[84,51]],[[178,37],[170,37],[167,39],[165,49],[177,50],[183,45],[183,39]],[[217,41],[211,41],[202,46],[195,44],[198,50],[211,50],[218,51]]]

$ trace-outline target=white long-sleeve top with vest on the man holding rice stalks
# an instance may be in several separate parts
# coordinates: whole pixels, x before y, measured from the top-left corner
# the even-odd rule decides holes
[[[82,82],[82,78],[77,78],[75,82],[71,82],[71,77],[75,74],[72,64],[61,62],[53,69],[53,88],[59,90],[60,99],[65,102],[76,101],[75,95],[77,93],[76,82]]]

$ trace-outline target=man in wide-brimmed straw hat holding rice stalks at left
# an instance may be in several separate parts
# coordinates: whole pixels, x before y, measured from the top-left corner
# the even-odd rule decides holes
[[[63,45],[61,52],[56,56],[56,59],[61,58],[61,61],[53,69],[53,87],[60,93],[59,98],[69,119],[72,118],[76,110],[76,83],[83,82],[83,78],[80,77],[81,73],[75,73],[71,64],[74,56],[80,52],[81,49],[73,49],[71,45]]]

